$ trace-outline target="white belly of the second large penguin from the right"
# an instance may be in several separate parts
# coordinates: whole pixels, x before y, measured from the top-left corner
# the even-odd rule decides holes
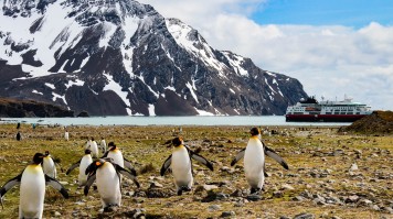
[[[191,160],[185,147],[177,149],[172,153],[171,168],[177,187],[188,186],[191,188],[193,183]]]

